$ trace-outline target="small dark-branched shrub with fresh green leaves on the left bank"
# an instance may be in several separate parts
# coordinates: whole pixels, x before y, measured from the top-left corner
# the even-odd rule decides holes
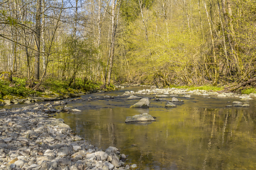
[[[60,43],[60,44],[58,44]],[[55,53],[53,57],[58,62],[54,63],[55,69],[58,68],[61,72],[61,78],[70,79],[70,84],[78,74],[86,74],[90,76],[92,67],[96,67],[97,49],[93,44],[91,38],[78,38],[68,35],[63,38],[62,42],[56,42],[56,46],[60,46],[59,52]],[[56,47],[58,48],[58,47]],[[61,57],[60,57],[61,56]],[[57,74],[53,69],[54,74]],[[56,75],[60,77],[60,75]],[[55,78],[54,78],[55,79]]]

